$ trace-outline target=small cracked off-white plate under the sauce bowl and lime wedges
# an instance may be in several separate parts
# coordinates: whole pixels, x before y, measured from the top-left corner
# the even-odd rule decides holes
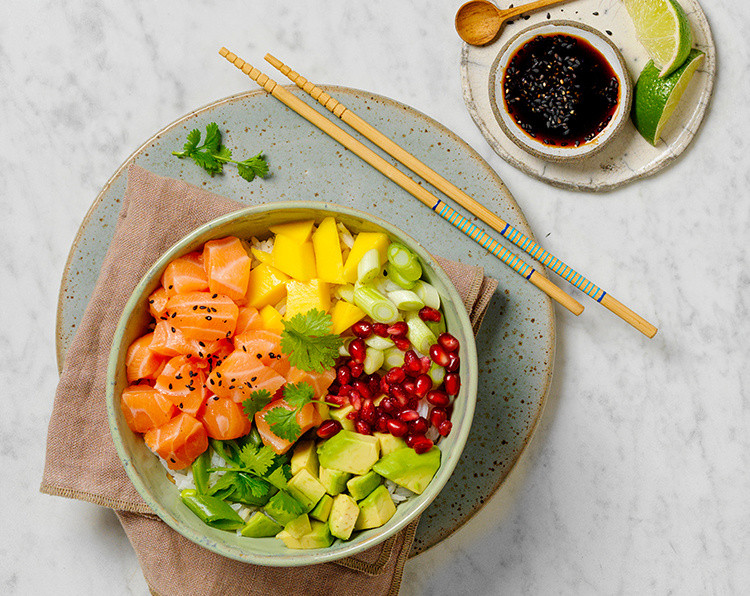
[[[495,0],[507,6],[507,0]],[[571,163],[551,163],[518,147],[500,127],[492,111],[490,78],[495,58],[505,43],[522,29],[548,20],[565,19],[585,23],[609,37],[625,58],[635,82],[649,58],[635,36],[635,28],[621,0],[576,0],[548,11],[519,17],[489,45],[464,44],[461,80],[464,102],[471,117],[495,153],[519,170],[553,186],[573,190],[607,191],[651,176],[672,163],[690,144],[703,121],[716,76],[716,48],[711,28],[697,0],[680,0],[693,30],[693,47],[706,58],[693,75],[680,104],[654,147],[638,134],[628,119],[616,139],[601,152]]]

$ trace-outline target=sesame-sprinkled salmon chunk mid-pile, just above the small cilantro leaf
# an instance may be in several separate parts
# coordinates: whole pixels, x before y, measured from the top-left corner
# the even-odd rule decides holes
[[[284,377],[255,356],[235,350],[211,371],[207,387],[216,395],[241,402],[261,389],[273,395],[285,382]]]

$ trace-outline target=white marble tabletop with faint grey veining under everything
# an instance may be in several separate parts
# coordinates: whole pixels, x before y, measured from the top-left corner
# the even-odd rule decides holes
[[[512,169],[475,128],[459,4],[2,3],[1,593],[147,593],[113,514],[37,492],[57,290],[79,223],[131,151],[247,88],[221,45],[258,63],[273,51],[316,82],[442,122],[505,180],[548,250],[660,327],[649,341],[596,305],[557,310],[531,448],[477,517],[407,564],[402,594],[750,591],[750,7],[703,3],[719,77],[693,146],[654,178],[586,195]]]

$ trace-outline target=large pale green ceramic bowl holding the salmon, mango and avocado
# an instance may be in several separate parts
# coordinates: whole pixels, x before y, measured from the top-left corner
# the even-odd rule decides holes
[[[448,330],[461,342],[461,392],[456,399],[453,431],[440,441],[440,469],[421,495],[398,505],[396,514],[380,528],[366,530],[352,540],[337,540],[325,549],[291,550],[276,538],[245,538],[206,526],[180,500],[159,463],[143,442],[125,423],[120,410],[120,394],[126,387],[125,353],[128,346],[143,335],[149,323],[147,297],[159,285],[162,271],[172,259],[191,252],[204,242],[224,236],[249,238],[269,236],[269,226],[300,219],[334,216],[352,232],[383,231],[416,252],[423,263],[423,277],[442,297]],[[391,224],[366,213],[339,205],[318,202],[282,202],[251,207],[220,217],[198,228],[170,248],[146,273],[125,305],[115,331],[107,372],[107,415],[117,453],[130,480],[148,506],[167,524],[193,542],[225,557],[256,565],[291,567],[334,561],[359,553],[386,540],[419,515],[438,495],[450,478],[466,443],[477,394],[477,356],[469,317],[461,297],[445,272],[416,240]]]

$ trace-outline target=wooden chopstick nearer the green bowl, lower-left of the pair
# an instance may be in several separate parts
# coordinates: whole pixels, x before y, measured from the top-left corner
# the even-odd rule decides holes
[[[260,85],[268,93],[281,101],[284,105],[297,112],[297,114],[317,126],[324,133],[344,145],[344,147],[349,149],[352,153],[357,155],[359,158],[378,170],[385,177],[392,180],[401,188],[419,199],[427,207],[432,209],[433,205],[439,202],[437,197],[414,182],[414,180],[409,178],[401,170],[388,163],[372,149],[362,144],[349,133],[320,114],[317,110],[307,105],[304,101],[284,89],[284,87],[276,83],[276,81],[269,78],[267,75],[263,74],[260,70],[258,70],[251,64],[248,64],[242,58],[239,58],[236,54],[233,54],[226,48],[221,48],[221,50],[219,50],[219,54],[224,56],[224,58],[234,64],[253,81],[258,83],[258,85]],[[567,308],[570,312],[575,315],[581,314],[581,312],[583,311],[583,305],[580,302],[566,294],[563,290],[558,288],[546,277],[536,271],[536,269],[522,261],[518,256],[513,254],[513,252],[502,246],[497,240],[494,240],[491,236],[474,225],[468,219],[466,219],[453,209],[450,209],[450,207],[448,207],[447,210],[436,211],[436,213],[449,221],[464,234],[468,235],[470,238],[478,242],[481,246],[498,257],[503,263],[511,267],[518,274],[525,277],[537,288],[539,288],[550,298]]]

